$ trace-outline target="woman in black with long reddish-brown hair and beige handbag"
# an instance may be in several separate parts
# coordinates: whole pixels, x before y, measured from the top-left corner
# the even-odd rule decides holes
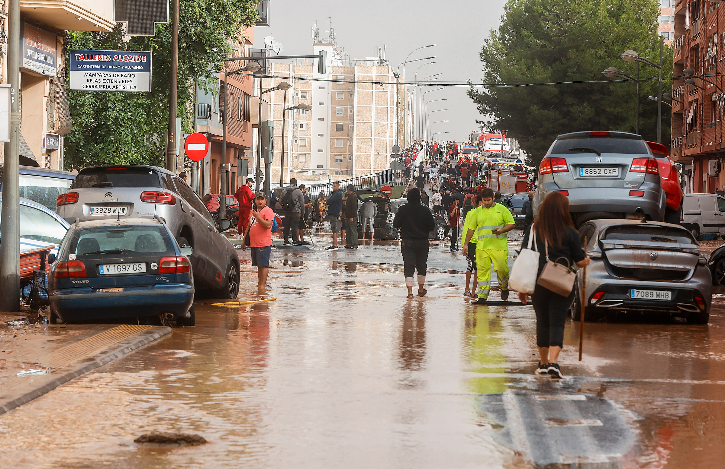
[[[560,274],[562,269],[566,272],[566,268],[573,269],[574,264],[579,267],[588,266],[589,256],[581,248],[579,234],[569,214],[569,200],[566,195],[552,192],[544,198],[537,219],[523,236],[522,246],[529,244],[531,227],[534,227],[534,241],[540,253],[537,275],[539,281],[531,295],[531,304],[534,305],[537,314],[537,346],[541,358],[536,373],[549,374],[552,378],[561,379],[564,375],[561,373],[558,358],[563,347],[564,324],[574,291],[571,287],[552,283],[566,276],[566,273]],[[551,281],[552,274],[547,274],[547,271],[559,271],[554,282]],[[542,284],[558,290],[558,293]],[[570,289],[568,296],[560,295],[567,288]],[[521,303],[526,304],[529,294],[519,293],[518,298]]]

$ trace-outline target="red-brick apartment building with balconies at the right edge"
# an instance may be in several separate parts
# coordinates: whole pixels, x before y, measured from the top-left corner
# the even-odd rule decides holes
[[[671,154],[683,166],[685,193],[715,193],[725,187],[725,80],[720,75],[725,12],[720,14],[719,3],[710,1],[674,1]],[[700,76],[694,78],[695,86],[684,83],[685,69]]]

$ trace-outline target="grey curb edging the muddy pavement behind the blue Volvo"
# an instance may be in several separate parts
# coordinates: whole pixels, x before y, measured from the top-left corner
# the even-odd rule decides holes
[[[67,383],[71,379],[78,378],[78,376],[84,375],[88,373],[88,371],[93,371],[96,368],[104,366],[106,363],[112,362],[117,358],[121,358],[123,357],[123,355],[127,355],[128,353],[133,352],[133,350],[141,348],[144,345],[149,344],[156,339],[159,339],[159,337],[164,337],[165,335],[170,334],[171,330],[172,329],[167,326],[155,326],[153,329],[143,331],[135,337],[125,339],[120,342],[119,346],[114,350],[104,350],[94,357],[87,358],[86,360],[90,361],[87,361],[86,363],[77,366],[72,371],[67,371],[62,375],[56,376],[53,380],[38,387],[38,389],[33,389],[32,391],[26,392],[25,394],[22,394],[20,397],[16,397],[13,400],[2,402],[2,405],[0,405],[0,415],[7,413],[9,412],[9,410],[13,410],[16,407],[20,407],[21,405],[26,404],[31,400],[37,399],[43,394],[51,392],[53,389],[56,389],[61,384]]]

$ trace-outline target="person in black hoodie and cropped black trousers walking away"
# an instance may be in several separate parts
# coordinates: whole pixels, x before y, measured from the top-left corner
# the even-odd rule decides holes
[[[400,252],[403,255],[403,271],[408,298],[413,298],[413,273],[418,269],[418,296],[424,297],[428,250],[428,235],[436,229],[430,209],[421,203],[421,191],[413,187],[407,194],[407,203],[398,209],[393,227],[400,230]]]

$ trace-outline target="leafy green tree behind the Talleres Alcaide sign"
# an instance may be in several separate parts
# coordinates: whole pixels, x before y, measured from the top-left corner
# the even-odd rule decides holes
[[[257,0],[181,0],[179,8],[178,117],[188,129],[194,90],[213,83],[213,72],[231,53],[235,38],[257,19]],[[73,130],[65,138],[66,168],[94,164],[163,166],[171,63],[170,25],[153,37],[123,41],[111,33],[68,32],[68,49],[152,51],[151,93],[69,91]]]

